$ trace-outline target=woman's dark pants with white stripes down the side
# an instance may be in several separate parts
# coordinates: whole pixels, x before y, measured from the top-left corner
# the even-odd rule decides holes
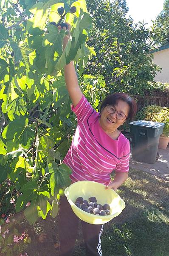
[[[58,227],[60,235],[59,256],[71,256],[78,233],[79,218],[74,214],[66,197],[60,198]],[[101,256],[101,233],[103,225],[88,224],[81,221],[86,256]]]

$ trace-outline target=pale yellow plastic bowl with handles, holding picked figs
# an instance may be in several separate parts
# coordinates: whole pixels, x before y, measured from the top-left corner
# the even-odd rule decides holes
[[[65,196],[76,216],[90,224],[104,224],[118,216],[125,208],[124,201],[113,189],[105,189],[105,185],[95,181],[83,180],[75,182],[65,189]],[[93,215],[79,209],[74,204],[79,196],[82,196],[87,201],[91,196],[95,196],[99,204],[109,204],[110,215]]]

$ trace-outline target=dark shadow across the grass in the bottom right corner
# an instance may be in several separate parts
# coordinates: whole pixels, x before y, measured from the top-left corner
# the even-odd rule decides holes
[[[158,222],[160,212],[140,211],[132,222],[113,224],[102,237],[104,256],[167,256],[169,228]]]

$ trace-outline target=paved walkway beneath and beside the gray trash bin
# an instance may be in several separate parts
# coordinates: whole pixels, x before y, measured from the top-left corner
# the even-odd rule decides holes
[[[169,148],[158,148],[158,153],[158,161],[152,164],[132,160],[130,154],[130,167],[133,167],[144,172],[149,172],[158,177],[162,177],[163,179],[169,180],[169,168],[167,168],[167,165],[169,163]]]

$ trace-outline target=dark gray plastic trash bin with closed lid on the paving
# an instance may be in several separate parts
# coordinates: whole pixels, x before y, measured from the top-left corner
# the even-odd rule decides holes
[[[129,125],[132,133],[132,159],[155,163],[164,123],[139,120]]]

